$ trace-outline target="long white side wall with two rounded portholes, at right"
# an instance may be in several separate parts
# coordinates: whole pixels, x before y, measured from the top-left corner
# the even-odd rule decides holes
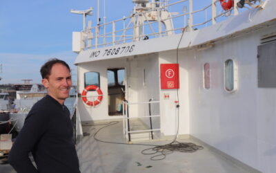
[[[264,28],[181,54],[188,66],[190,134],[262,172],[276,172],[276,89],[257,87],[257,46]],[[238,90],[224,91],[224,61],[238,66]],[[203,66],[210,63],[210,89]],[[182,85],[182,83],[181,83]]]

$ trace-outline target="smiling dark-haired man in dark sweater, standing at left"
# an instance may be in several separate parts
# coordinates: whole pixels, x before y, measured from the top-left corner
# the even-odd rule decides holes
[[[19,173],[79,173],[70,112],[64,106],[72,85],[70,68],[66,62],[52,59],[40,72],[48,95],[28,113],[8,161]],[[30,152],[37,168],[30,161]]]

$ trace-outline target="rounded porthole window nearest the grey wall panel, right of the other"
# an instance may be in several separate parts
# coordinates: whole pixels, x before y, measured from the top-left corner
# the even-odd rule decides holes
[[[224,89],[227,92],[237,90],[237,66],[230,59],[224,62]]]

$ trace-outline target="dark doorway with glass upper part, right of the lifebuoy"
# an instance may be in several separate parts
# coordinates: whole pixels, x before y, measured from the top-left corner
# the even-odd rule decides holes
[[[108,69],[108,115],[121,116],[123,114],[123,100],[125,98],[125,69]]]

